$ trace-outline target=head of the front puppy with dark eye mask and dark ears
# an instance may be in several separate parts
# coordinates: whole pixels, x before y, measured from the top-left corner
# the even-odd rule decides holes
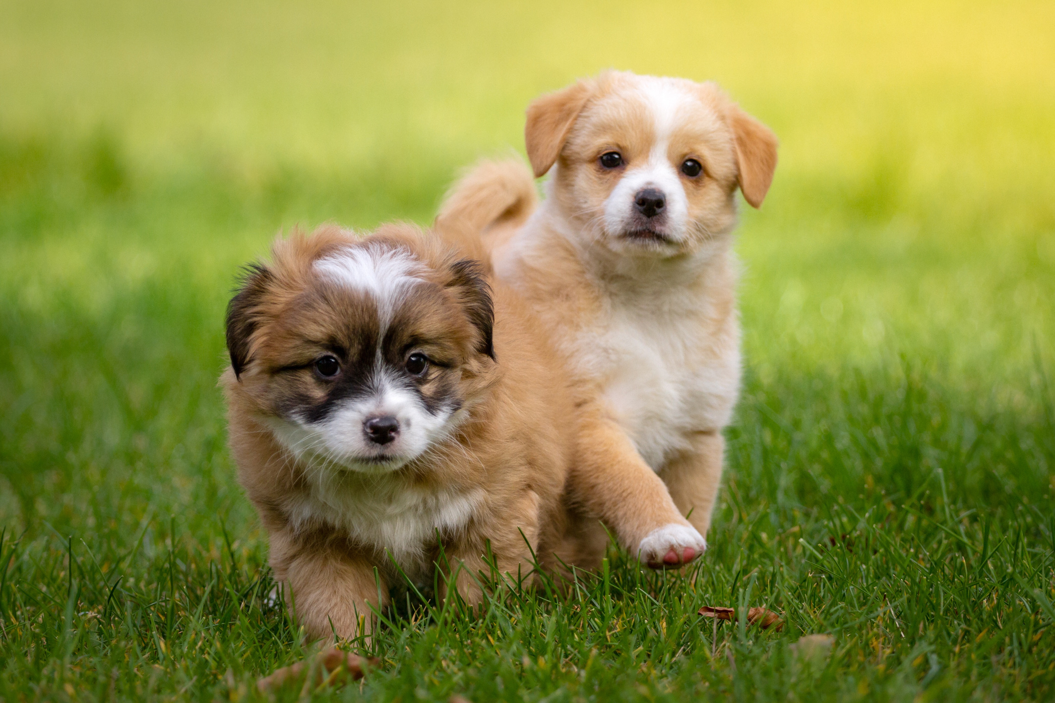
[[[490,352],[486,290],[466,262],[438,272],[398,241],[348,241],[310,260],[295,249],[232,300],[232,366],[294,455],[396,470],[464,418],[466,371]]]

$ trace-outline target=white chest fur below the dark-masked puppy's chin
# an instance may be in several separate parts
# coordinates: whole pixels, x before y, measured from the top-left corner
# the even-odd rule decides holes
[[[436,546],[436,531],[457,535],[484,499],[480,488],[426,488],[399,474],[327,474],[315,472],[309,490],[287,501],[294,529],[329,525],[361,544],[389,551],[411,574],[430,566],[426,556]]]

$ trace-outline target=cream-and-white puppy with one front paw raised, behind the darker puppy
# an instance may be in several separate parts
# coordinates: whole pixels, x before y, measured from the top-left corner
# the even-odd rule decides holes
[[[740,385],[735,191],[762,203],[776,139],[713,83],[630,73],[539,98],[525,137],[534,176],[551,174],[541,206],[520,163],[484,163],[437,221],[487,228],[496,276],[593,408],[573,494],[650,565],[690,561]]]

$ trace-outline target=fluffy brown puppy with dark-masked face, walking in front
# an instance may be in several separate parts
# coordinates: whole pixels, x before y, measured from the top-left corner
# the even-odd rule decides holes
[[[576,427],[562,365],[530,310],[437,237],[279,240],[231,300],[227,346],[238,476],[309,636],[369,633],[392,561],[427,578],[440,545],[469,603],[488,544],[513,579],[532,551],[597,561],[596,535],[589,554],[562,536]]]

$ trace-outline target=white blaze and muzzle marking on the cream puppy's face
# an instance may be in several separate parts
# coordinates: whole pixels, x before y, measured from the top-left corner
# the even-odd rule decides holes
[[[680,164],[670,161],[670,140],[679,126],[678,113],[695,100],[695,96],[677,83],[663,78],[641,76],[636,86],[638,99],[652,118],[653,141],[646,161],[631,162],[626,175],[612,190],[605,204],[605,221],[610,232],[628,227],[633,215],[634,198],[645,188],[655,188],[666,196],[664,233],[674,239],[685,236],[689,201],[677,175]]]

